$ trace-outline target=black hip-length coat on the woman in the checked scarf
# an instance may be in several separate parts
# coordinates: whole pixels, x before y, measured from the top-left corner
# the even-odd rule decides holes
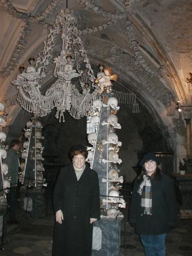
[[[142,182],[142,181],[141,181]],[[137,193],[141,182],[135,181],[130,206],[130,223],[143,235],[167,233],[177,223],[177,203],[173,180],[167,175],[151,179],[152,215],[143,214],[141,195]]]

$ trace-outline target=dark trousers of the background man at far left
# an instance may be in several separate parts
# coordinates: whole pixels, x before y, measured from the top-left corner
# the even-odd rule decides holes
[[[16,219],[16,201],[17,201],[17,187],[10,187],[7,195],[7,201],[9,203],[9,218],[10,221]]]

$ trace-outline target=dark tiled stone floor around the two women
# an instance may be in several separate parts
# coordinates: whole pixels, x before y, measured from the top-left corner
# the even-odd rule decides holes
[[[54,217],[41,219],[20,218],[19,225],[8,226],[10,242],[0,251],[2,256],[51,256]],[[122,222],[119,256],[142,256],[143,248],[133,227]],[[166,255],[192,255],[192,219],[180,219],[178,227],[166,238]],[[117,255],[118,256],[118,255]]]

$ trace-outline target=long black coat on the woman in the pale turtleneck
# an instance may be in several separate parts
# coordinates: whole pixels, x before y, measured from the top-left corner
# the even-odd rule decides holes
[[[73,164],[61,169],[54,189],[54,210],[63,212],[55,223],[53,256],[90,256],[93,224],[100,218],[99,182],[96,171],[86,166],[79,181]]]

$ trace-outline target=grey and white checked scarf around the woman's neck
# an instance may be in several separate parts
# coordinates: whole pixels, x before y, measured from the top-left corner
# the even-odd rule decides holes
[[[147,175],[143,175],[143,181],[139,185],[137,191],[141,195],[141,207],[143,207],[144,214],[152,214],[152,191],[151,191],[151,180]]]

